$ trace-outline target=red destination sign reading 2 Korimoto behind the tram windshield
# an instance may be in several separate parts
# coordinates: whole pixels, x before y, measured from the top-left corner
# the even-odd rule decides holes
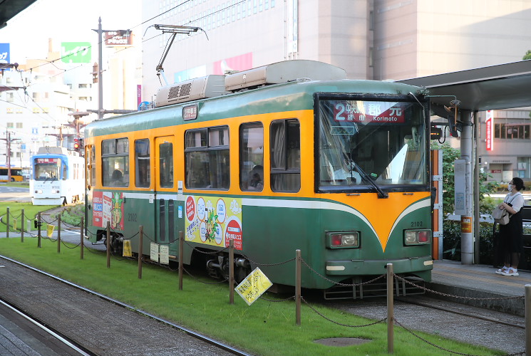
[[[382,122],[402,124],[406,122],[404,110],[399,103],[380,101],[347,102],[340,101],[334,105],[334,120],[337,122]]]

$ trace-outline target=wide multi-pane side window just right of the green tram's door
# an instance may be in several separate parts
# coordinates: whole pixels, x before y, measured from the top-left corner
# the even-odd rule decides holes
[[[185,132],[185,184],[190,189],[229,189],[229,127]]]

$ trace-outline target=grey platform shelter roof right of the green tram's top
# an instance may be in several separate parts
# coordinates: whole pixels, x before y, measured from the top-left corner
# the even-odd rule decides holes
[[[430,95],[455,95],[460,110],[531,106],[531,60],[397,81],[424,86]],[[431,103],[448,106],[450,100],[453,98],[433,97]]]

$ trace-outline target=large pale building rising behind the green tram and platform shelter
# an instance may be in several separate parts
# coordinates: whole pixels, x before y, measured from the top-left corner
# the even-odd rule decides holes
[[[527,0],[143,0],[142,17],[147,101],[164,85],[156,67],[171,36],[154,24],[207,34],[177,35],[163,63],[169,83],[297,58],[339,66],[351,79],[402,80],[520,61],[531,48]],[[495,111],[494,150],[478,146],[493,179],[530,179],[529,112]]]

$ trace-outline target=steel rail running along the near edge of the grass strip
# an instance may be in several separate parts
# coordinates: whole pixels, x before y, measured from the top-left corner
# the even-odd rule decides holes
[[[101,298],[101,299],[103,299],[105,301],[108,301],[110,303],[114,303],[115,305],[119,305],[120,307],[123,307],[123,308],[126,308],[126,309],[130,309],[130,310],[134,310],[136,313],[139,313],[140,315],[144,315],[144,316],[146,316],[148,318],[152,318],[154,320],[157,320],[160,323],[164,323],[166,325],[170,325],[172,328],[175,328],[175,329],[180,330],[180,331],[182,331],[184,333],[187,333],[188,335],[190,335],[192,337],[195,337],[195,338],[197,338],[199,340],[202,340],[204,342],[207,342],[210,345],[215,345],[216,347],[219,347],[220,349],[225,350],[227,352],[231,352],[234,355],[252,356],[251,354],[248,354],[247,352],[243,352],[242,350],[238,350],[238,349],[236,349],[236,348],[234,348],[234,347],[232,347],[230,345],[227,345],[227,344],[224,344],[224,343],[219,342],[217,340],[214,340],[211,337],[208,337],[206,335],[202,335],[200,333],[196,333],[195,331],[187,329],[187,328],[183,327],[182,325],[177,325],[177,324],[171,322],[170,320],[165,320],[163,318],[158,317],[157,315],[153,315],[151,313],[148,313],[145,310],[138,309],[138,308],[136,308],[133,305],[120,302],[120,300],[116,300],[114,298],[110,298],[107,295],[104,295],[102,293],[96,292],[95,290],[91,290],[91,289],[85,288],[83,286],[79,286],[78,284],[72,283],[71,281],[67,281],[66,279],[60,278],[58,276],[53,276],[53,274],[51,274],[51,273],[48,273],[48,272],[45,272],[45,271],[41,271],[38,268],[26,265],[26,263],[21,263],[21,262],[16,261],[16,260],[14,260],[12,258],[9,258],[9,257],[6,257],[6,256],[2,256],[2,255],[0,255],[0,258],[4,258],[6,261],[10,261],[12,263],[18,264],[19,266],[23,266],[24,268],[28,268],[31,271],[35,271],[37,273],[41,273],[44,276],[48,276],[50,278],[53,278],[56,281],[60,281],[62,283],[65,283],[66,285],[71,286],[73,288],[77,288],[79,290],[83,290],[86,293],[90,293],[92,295],[96,295],[98,298]]]

